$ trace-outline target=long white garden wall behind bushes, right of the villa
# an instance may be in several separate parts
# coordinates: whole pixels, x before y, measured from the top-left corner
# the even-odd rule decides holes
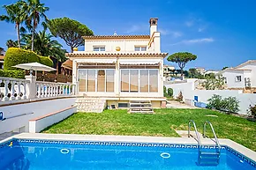
[[[193,90],[193,83],[181,83],[173,85],[165,85],[166,88],[172,88],[174,97],[177,97],[179,92],[183,94],[183,100],[194,100],[194,96],[198,96],[200,102],[207,103],[214,94],[221,95],[222,98],[225,97],[236,97],[239,100],[239,114],[247,114],[248,107],[250,105],[256,104],[256,94],[253,93],[243,93],[239,90]]]

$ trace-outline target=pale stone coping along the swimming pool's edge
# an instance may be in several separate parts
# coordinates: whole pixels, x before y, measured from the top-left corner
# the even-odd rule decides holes
[[[5,138],[0,144],[10,141],[11,139],[34,139],[34,140],[62,140],[62,141],[99,141],[99,142],[126,142],[126,143],[164,143],[164,144],[198,144],[192,137],[142,137],[142,136],[111,136],[111,135],[73,135],[73,134],[45,134],[45,133],[21,133],[12,137]],[[221,145],[245,155],[245,157],[256,162],[256,152],[246,148],[242,144],[220,138]],[[203,145],[215,145],[215,142],[209,138],[201,139]]]

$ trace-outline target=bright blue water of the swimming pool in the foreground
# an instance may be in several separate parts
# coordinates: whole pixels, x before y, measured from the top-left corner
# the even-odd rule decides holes
[[[198,151],[189,144],[14,140],[0,144],[0,169],[256,169],[255,162],[228,147],[222,147],[218,166],[198,166]]]

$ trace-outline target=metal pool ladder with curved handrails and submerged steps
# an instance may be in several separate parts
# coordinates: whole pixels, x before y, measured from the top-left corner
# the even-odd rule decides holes
[[[192,137],[192,135],[190,134],[191,132],[191,123],[193,124],[194,130],[195,130],[195,134],[196,134],[196,140],[199,144],[199,156],[198,156],[198,162],[197,164],[199,166],[217,166],[220,162],[220,155],[221,155],[221,145],[218,141],[218,138],[216,137],[215,134],[215,129],[212,125],[211,122],[206,121],[204,123],[204,133],[203,133],[203,137],[207,137],[206,136],[206,130],[207,130],[207,124],[210,125],[212,132],[214,134],[215,137],[215,146],[216,146],[216,152],[208,152],[207,149],[202,147],[201,141],[200,141],[200,135],[199,132],[197,130],[197,126],[196,123],[193,120],[190,120],[188,122],[188,137]]]

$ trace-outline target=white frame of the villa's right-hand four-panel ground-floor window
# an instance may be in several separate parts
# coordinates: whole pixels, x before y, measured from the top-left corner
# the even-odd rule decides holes
[[[120,74],[119,74],[119,92],[122,92],[122,89],[121,89],[121,78],[122,78],[122,74],[121,74],[121,70],[128,70],[129,71],[129,93],[130,93],[130,70],[139,70],[139,78],[138,78],[138,85],[139,85],[139,90],[138,90],[138,92],[131,92],[131,93],[157,93],[157,92],[159,92],[159,70],[158,69],[120,69],[119,71],[120,71]],[[148,81],[148,85],[147,85],[147,92],[140,92],[140,70],[147,70],[147,74],[148,74],[148,79],[147,79],[147,81]],[[158,90],[157,90],[157,92],[149,92],[149,89],[150,89],[150,87],[149,87],[149,70],[157,70],[157,87],[158,87]],[[127,92],[124,92],[124,93],[127,93]]]

